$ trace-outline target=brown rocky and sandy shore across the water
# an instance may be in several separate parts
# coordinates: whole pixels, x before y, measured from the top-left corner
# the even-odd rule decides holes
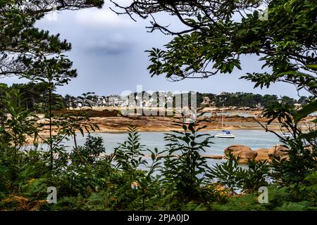
[[[116,109],[113,109],[116,110]],[[87,110],[89,113],[89,122],[87,124],[97,124],[99,129],[96,131],[90,130],[91,133],[109,133],[109,134],[123,134],[128,132],[128,127],[133,125],[137,127],[138,131],[141,132],[169,132],[172,130],[183,131],[182,127],[175,126],[176,122],[180,122],[179,116],[169,117],[169,116],[144,116],[144,115],[132,115],[130,117],[123,117],[118,114],[118,112],[108,110],[104,108],[99,108],[99,110]],[[215,110],[210,110],[215,112]],[[201,122],[200,126],[206,126],[201,131],[220,131],[222,129],[228,130],[263,130],[265,129],[261,127],[261,125],[256,122],[258,120],[263,125],[268,122],[268,119],[261,117],[261,111],[250,111],[250,110],[228,110],[231,112],[231,115],[223,116],[223,127],[221,126],[221,115],[217,113],[217,115],[210,115],[206,118],[206,121]],[[56,111],[58,113],[71,113],[73,110],[62,110]],[[250,116],[242,116],[237,115],[237,113],[245,113],[252,115]],[[254,117],[253,115],[256,115]],[[42,119],[40,119],[39,123],[47,123],[47,119],[44,119],[44,116],[41,115]],[[308,117],[306,122],[309,122],[313,118],[316,117]],[[255,120],[256,119],[256,120]],[[46,138],[49,136],[48,125],[44,126],[44,128],[39,131],[39,135]],[[303,127],[304,128],[304,127]],[[270,125],[268,125],[268,129],[273,131],[281,131],[280,124],[277,120],[274,120]],[[56,134],[56,127],[53,129],[53,134]],[[29,140],[32,142],[32,138]],[[37,140],[39,141],[39,139]]]

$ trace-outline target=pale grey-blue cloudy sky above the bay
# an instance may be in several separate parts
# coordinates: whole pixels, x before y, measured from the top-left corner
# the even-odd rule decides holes
[[[122,1],[126,4],[129,0]],[[163,75],[151,77],[147,70],[149,58],[144,51],[153,47],[162,48],[173,37],[159,31],[149,33],[146,28],[150,25],[149,20],[135,17],[137,22],[134,22],[127,15],[116,15],[109,6],[110,3],[102,9],[54,13],[36,23],[37,27],[49,30],[51,34],[61,34],[61,39],[67,39],[73,46],[66,54],[73,60],[78,77],[68,85],[58,87],[58,94],[79,96],[93,91],[97,95],[108,96],[137,91],[137,85],[142,85],[143,91],[190,90],[213,94],[242,91],[298,98],[291,84],[273,84],[269,89],[254,89],[254,84],[239,79],[247,72],[261,71],[261,63],[256,56],[242,56],[242,70],[234,70],[230,75],[180,82],[170,82]],[[177,20],[168,15],[159,15],[158,20],[174,30],[182,28]],[[12,84],[23,80],[11,77],[1,79],[1,82]]]

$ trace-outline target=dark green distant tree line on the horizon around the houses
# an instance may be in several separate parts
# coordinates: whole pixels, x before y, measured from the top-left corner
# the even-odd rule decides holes
[[[35,84],[30,82],[27,84],[13,84],[8,86],[7,84],[1,84],[1,92],[8,90],[18,90],[22,98],[20,99],[20,106],[25,107],[26,109],[37,108],[38,111],[44,110],[46,108],[45,103],[48,96],[48,89],[45,83]],[[145,91],[143,91],[143,96],[145,96]],[[136,93],[135,93],[136,96]],[[157,102],[159,102],[159,92],[156,92]],[[93,93],[89,94],[89,101],[92,105],[94,102],[97,103],[99,96],[94,95]],[[210,93],[199,93],[197,92],[197,105],[201,105],[204,102],[204,97],[209,98],[209,103],[207,105],[212,105],[216,107],[221,107],[223,103],[225,106],[237,106],[237,107],[266,107],[269,103],[281,102],[287,103],[289,105],[294,105],[294,103],[304,104],[309,99],[306,96],[301,96],[299,99],[290,98],[288,96],[276,96],[276,95],[261,95],[261,94],[252,94],[244,92],[235,92],[227,93],[223,92],[221,94],[210,94]],[[188,96],[190,102],[190,95]],[[53,109],[63,109],[70,107],[77,107],[77,98],[75,96],[61,96],[60,94],[53,93],[52,103]],[[1,99],[0,99],[1,104]],[[173,96],[173,105],[175,105],[175,96]]]

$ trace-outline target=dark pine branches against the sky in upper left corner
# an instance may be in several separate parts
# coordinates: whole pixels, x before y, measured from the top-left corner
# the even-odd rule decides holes
[[[38,56],[54,56],[71,49],[71,44],[61,40],[59,34],[52,35],[34,25],[54,10],[77,10],[80,8],[101,8],[102,0],[94,1],[28,1],[13,0],[0,3],[0,76],[23,75],[28,65],[21,60],[25,56],[37,60]],[[56,7],[52,7],[56,6]]]

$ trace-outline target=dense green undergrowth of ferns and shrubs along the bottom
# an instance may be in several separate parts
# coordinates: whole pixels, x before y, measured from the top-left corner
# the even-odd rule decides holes
[[[289,161],[276,159],[272,165],[250,161],[249,168],[242,169],[239,158],[228,155],[227,162],[209,167],[201,152],[211,144],[211,137],[199,134],[203,128],[199,122],[179,125],[184,131],[175,131],[162,152],[142,146],[137,130],[130,127],[128,140],[113,154],[106,154],[101,138],[88,136],[84,146],[74,147],[69,153],[59,152],[54,167],[46,153],[17,153],[15,146],[8,144],[0,155],[0,208],[317,210],[316,148],[311,154],[301,150],[306,155],[294,156],[297,160],[291,156]],[[203,141],[196,141],[203,136]],[[292,150],[298,153],[299,148]],[[311,167],[292,170],[303,167],[299,159],[311,161]],[[46,203],[49,186],[58,190],[57,204]],[[268,187],[267,204],[257,202],[260,186]]]

